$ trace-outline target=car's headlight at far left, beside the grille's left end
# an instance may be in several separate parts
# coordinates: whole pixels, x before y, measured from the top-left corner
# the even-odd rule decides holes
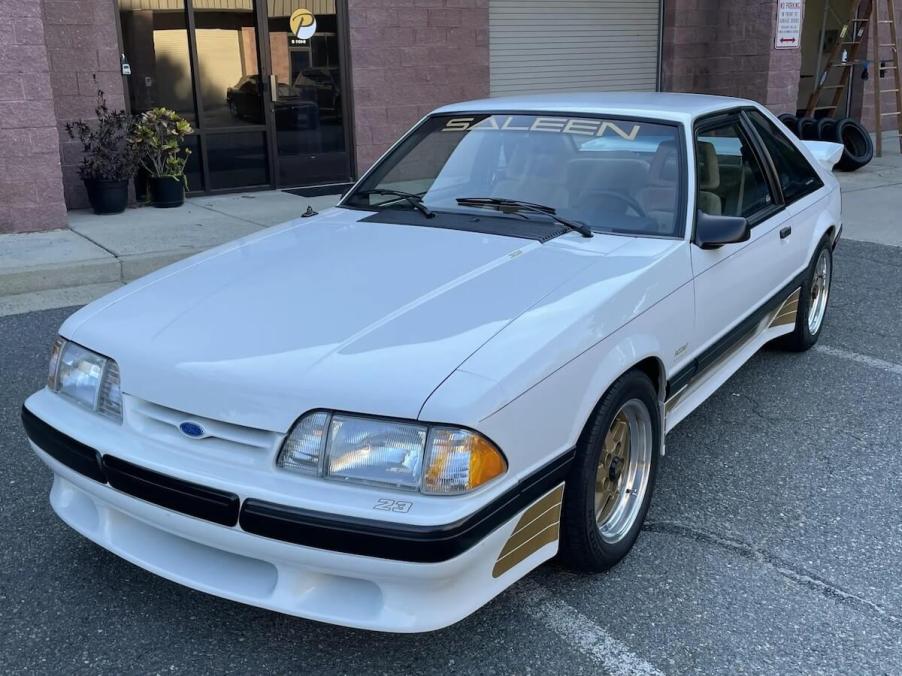
[[[122,421],[119,366],[112,359],[57,338],[47,386],[91,411]]]

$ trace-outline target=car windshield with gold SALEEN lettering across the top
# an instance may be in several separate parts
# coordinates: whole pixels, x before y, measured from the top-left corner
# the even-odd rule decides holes
[[[378,194],[402,191],[433,211],[471,213],[478,206],[461,198],[492,197],[551,207],[598,232],[679,235],[678,139],[676,126],[623,119],[435,116],[343,204],[413,209]]]

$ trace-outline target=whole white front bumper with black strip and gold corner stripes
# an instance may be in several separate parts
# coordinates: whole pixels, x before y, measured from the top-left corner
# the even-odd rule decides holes
[[[73,529],[175,582],[290,615],[380,631],[439,629],[557,551],[569,457],[463,522],[374,528],[151,472],[28,409],[23,422],[54,472],[51,505]]]

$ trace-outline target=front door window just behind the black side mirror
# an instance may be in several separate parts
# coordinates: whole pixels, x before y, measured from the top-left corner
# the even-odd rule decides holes
[[[738,120],[697,132],[697,206],[714,216],[754,216],[773,204],[767,179]]]

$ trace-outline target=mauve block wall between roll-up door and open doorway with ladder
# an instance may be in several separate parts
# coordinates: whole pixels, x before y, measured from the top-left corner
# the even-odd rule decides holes
[[[774,49],[776,0],[665,0],[663,88],[795,112],[801,56]]]

